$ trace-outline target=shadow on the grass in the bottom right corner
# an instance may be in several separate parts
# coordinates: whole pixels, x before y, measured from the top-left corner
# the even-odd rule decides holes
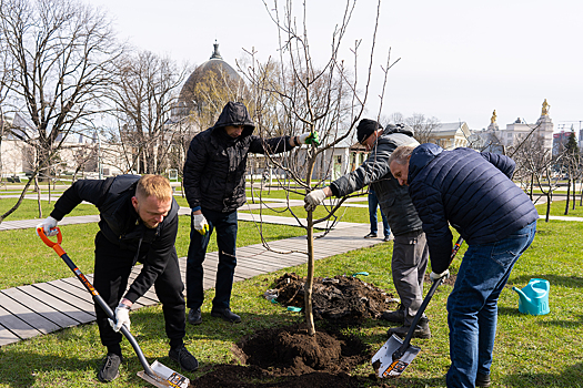
[[[560,374],[514,374],[503,377],[506,387],[583,387],[583,363]]]

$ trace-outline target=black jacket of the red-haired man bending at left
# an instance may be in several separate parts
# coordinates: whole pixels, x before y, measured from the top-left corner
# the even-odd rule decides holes
[[[139,259],[143,263],[140,275],[125,294],[132,303],[150,289],[169,259],[178,259],[174,242],[179,205],[172,200],[170,212],[158,227],[145,227],[131,203],[139,178],[138,175],[118,175],[105,181],[77,181],[57,201],[51,212],[51,216],[60,221],[82,201],[99,208],[100,233],[121,249],[129,249],[134,255],[134,262]]]

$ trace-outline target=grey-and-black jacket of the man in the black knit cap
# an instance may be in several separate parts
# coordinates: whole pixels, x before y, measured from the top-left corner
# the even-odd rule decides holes
[[[389,125],[376,140],[366,161],[353,172],[332,182],[330,190],[341,197],[370,184],[395,236],[421,232],[421,219],[406,187],[399,185],[389,170],[389,157],[398,146],[418,144],[412,132],[402,126]]]

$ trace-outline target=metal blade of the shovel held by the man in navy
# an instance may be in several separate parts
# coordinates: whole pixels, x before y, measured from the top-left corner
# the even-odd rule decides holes
[[[403,356],[393,360],[393,354],[403,345],[403,340],[394,334],[372,357],[372,366],[379,377],[399,377],[413,361],[421,348],[410,345]]]

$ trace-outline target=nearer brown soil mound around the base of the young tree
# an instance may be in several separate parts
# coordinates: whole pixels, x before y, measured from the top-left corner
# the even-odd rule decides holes
[[[248,366],[218,365],[190,388],[356,388],[393,387],[374,374],[350,376],[356,365],[369,363],[373,351],[356,337],[318,330],[308,335],[303,325],[265,329],[243,338],[233,349]]]

